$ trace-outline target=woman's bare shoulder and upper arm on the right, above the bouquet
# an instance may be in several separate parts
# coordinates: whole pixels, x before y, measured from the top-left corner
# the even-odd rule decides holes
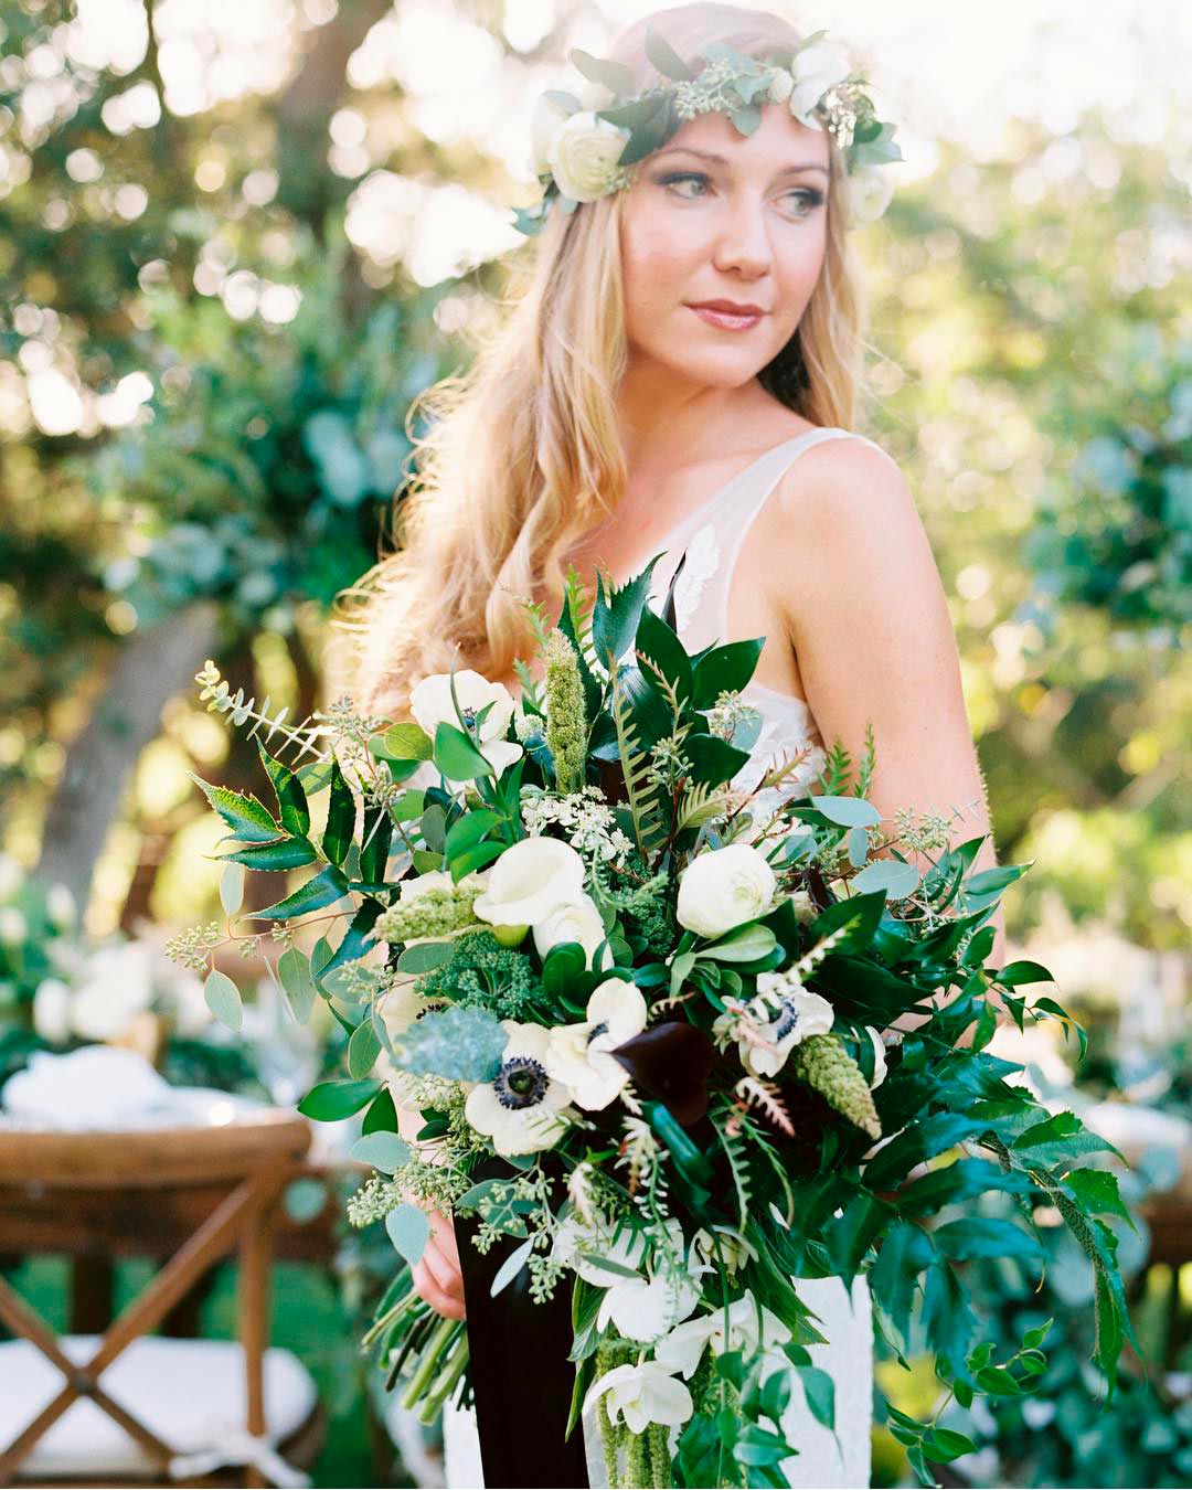
[[[949,820],[960,811],[948,828],[949,843],[989,834],[974,867],[995,867],[952,618],[901,471],[860,441],[830,441],[790,468],[773,505],[785,536],[775,544],[785,560],[775,602],[825,746],[842,741],[855,770],[872,724],[876,763],[869,797],[891,828],[898,808]],[[921,854],[907,858],[921,869],[930,864]],[[991,958],[1000,967],[1006,960],[1000,906],[989,925]],[[904,1015],[895,1028],[922,1022],[924,1016]]]

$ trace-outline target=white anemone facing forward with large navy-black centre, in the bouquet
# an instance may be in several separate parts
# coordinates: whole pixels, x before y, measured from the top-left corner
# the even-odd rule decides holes
[[[547,1073],[550,1031],[513,1019],[501,1024],[510,1037],[501,1070],[492,1082],[480,1082],[468,1092],[463,1112],[505,1158],[553,1149],[568,1126],[563,1109],[571,1092]]]

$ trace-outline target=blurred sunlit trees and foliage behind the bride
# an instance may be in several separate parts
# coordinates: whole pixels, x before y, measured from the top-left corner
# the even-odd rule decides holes
[[[86,1036],[39,1028],[48,979],[165,1018],[229,1089],[292,1100],[338,1059],[326,1031],[279,1065],[267,995],[234,1047],[204,1036],[161,958],[219,913],[191,772],[255,769],[192,676],[213,656],[294,715],[326,702],[328,606],[405,478],[405,411],[466,364],[533,252],[510,212],[536,195],[533,98],[574,83],[569,46],[600,54],[645,9],[0,0],[0,1080]],[[952,1469],[1188,1483],[1192,1278],[1182,1296],[1186,1241],[1156,1238],[1188,1214],[1192,1118],[1192,6],[775,9],[827,27],[898,121],[894,203],[860,240],[866,432],[933,541],[1000,858],[1034,861],[1012,945],[1094,1037],[1083,1065],[1042,1031],[1007,1053],[1044,1095],[1113,1109],[1149,1207],[1122,1256],[1153,1390],[1134,1371],[1116,1416],[1085,1405],[1088,1299],[1056,1256],[1067,1365],[985,1413]],[[152,967],[94,973],[133,943]],[[328,1484],[377,1483],[344,1354],[368,1298],[352,1266],[283,1289],[299,1313],[323,1289],[307,1344],[338,1393]],[[1009,1338],[1028,1301],[995,1286]],[[930,1411],[921,1372],[879,1380]],[[875,1484],[906,1474],[879,1429]]]

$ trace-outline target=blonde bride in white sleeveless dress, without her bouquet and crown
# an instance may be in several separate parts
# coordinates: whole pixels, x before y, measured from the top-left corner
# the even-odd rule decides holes
[[[802,40],[764,10],[660,10],[611,49],[638,91],[665,82],[648,25],[688,60],[709,43],[766,57]],[[660,554],[651,603],[672,596],[688,651],[766,638],[744,690],[764,729],[736,785],[802,751],[787,790],[814,790],[824,742],[858,761],[872,721],[878,809],[966,803],[973,837],[988,815],[940,578],[898,466],[849,428],[863,340],[848,229],[864,194],[849,195],[830,131],[785,103],[760,116],[751,134],[717,109],[685,118],[618,189],[550,213],[505,323],[428,399],[401,550],[347,620],[353,693],[405,715],[411,685],[451,666],[517,693],[514,660],[532,651],[523,597],[557,609],[569,565],[595,587],[597,566],[623,583]],[[535,134],[550,122],[539,107]],[[556,183],[583,171],[581,156],[547,161],[541,137],[533,150]],[[992,867],[991,840],[983,860]],[[451,1223],[432,1223],[416,1287],[462,1319]],[[836,1433],[796,1392],[782,1426],[800,1453],[784,1474],[867,1486],[864,1277],[851,1293],[837,1278],[797,1287],[828,1338],[812,1354],[834,1381]],[[474,1420],[457,1410],[447,1474],[481,1484]]]

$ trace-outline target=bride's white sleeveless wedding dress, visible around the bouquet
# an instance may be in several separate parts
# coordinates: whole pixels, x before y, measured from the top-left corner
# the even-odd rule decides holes
[[[668,533],[666,551],[654,566],[648,603],[653,611],[662,612],[670,580],[685,553],[687,562],[675,584],[673,600],[675,627],[688,653],[712,642],[742,639],[729,636],[727,626],[730,586],[745,535],[782,472],[805,450],[825,440],[842,438],[861,440],[881,450],[872,440],[848,429],[828,426],[805,431],[764,451]],[[647,554],[644,562],[650,557],[653,554]],[[632,647],[626,660],[630,657]],[[763,729],[749,760],[733,778],[735,788],[752,790],[776,757],[811,748],[805,763],[782,787],[758,794],[758,808],[772,811],[779,800],[802,796],[814,784],[825,763],[824,742],[803,699],[752,679],[742,688],[742,697],[760,711]],[[802,1392],[796,1389],[782,1418],[782,1432],[787,1442],[799,1448],[799,1454],[782,1465],[782,1472],[797,1490],[854,1490],[869,1486],[873,1420],[873,1316],[869,1284],[864,1277],[857,1277],[849,1293],[839,1278],[799,1278],[796,1292],[815,1313],[820,1332],[827,1338],[827,1344],[811,1347],[811,1356],[814,1365],[828,1372],[836,1387],[836,1435],[812,1417]],[[590,1483],[603,1486],[606,1480],[596,1424],[586,1420],[584,1429]],[[444,1450],[450,1490],[477,1490],[484,1484],[474,1413],[447,1408]]]

